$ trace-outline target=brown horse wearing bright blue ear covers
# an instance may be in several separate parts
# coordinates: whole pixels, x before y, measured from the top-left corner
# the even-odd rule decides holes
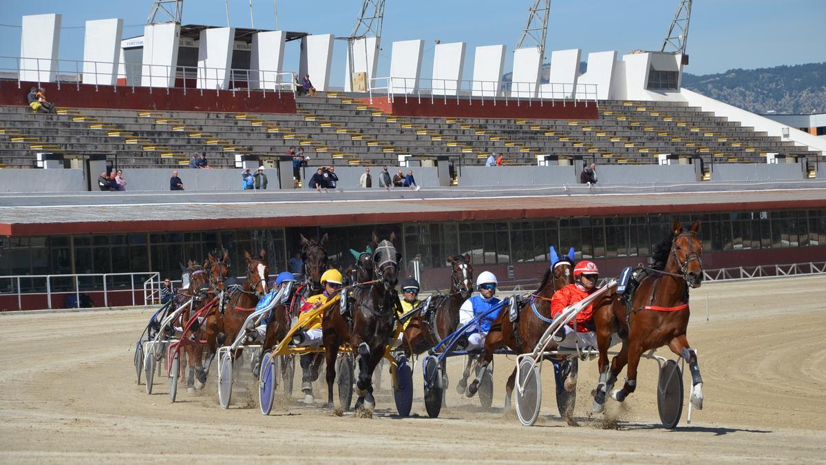
[[[510,320],[510,312],[502,309],[499,316],[491,326],[491,330],[485,337],[485,353],[482,355],[477,366],[476,379],[474,379],[465,391],[465,395],[472,397],[476,394],[482,376],[485,375],[493,361],[493,354],[501,348],[510,348],[516,353],[527,353],[534,350],[539,338],[545,333],[548,324],[551,322],[551,298],[553,293],[573,282],[573,248],[567,256],[556,256],[556,251],[552,252],[551,268],[545,271],[539,290],[535,294],[529,295],[523,303],[522,311],[518,313],[515,321]],[[528,311],[527,309],[531,311]],[[571,375],[568,379],[573,380],[576,386],[576,362],[572,362]],[[505,410],[510,409],[510,398],[514,391],[516,381],[516,368],[510,373],[505,386]],[[571,388],[572,390],[573,388]]]

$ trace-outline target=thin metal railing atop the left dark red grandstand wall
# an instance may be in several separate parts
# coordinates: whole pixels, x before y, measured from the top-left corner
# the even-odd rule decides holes
[[[53,65],[54,64],[54,65]],[[66,84],[91,84],[95,90],[99,86],[131,88],[183,89],[188,91],[229,91],[236,92],[283,92],[295,93],[296,74],[273,70],[243,70],[237,68],[212,68],[206,66],[169,66],[121,64],[104,61],[50,60],[45,58],[25,58],[0,56],[0,73],[16,76],[17,87],[21,82],[55,82],[58,89]],[[118,84],[126,79],[127,84]]]

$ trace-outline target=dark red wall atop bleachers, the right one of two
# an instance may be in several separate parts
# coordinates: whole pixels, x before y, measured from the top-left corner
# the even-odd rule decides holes
[[[507,102],[502,99],[494,101],[492,98],[470,99],[448,97],[418,98],[396,96],[393,102],[387,98],[356,98],[358,102],[378,108],[384,113],[396,116],[411,117],[484,117],[484,118],[531,118],[531,119],[599,119],[599,113],[594,102],[567,101],[527,101],[510,98]]]

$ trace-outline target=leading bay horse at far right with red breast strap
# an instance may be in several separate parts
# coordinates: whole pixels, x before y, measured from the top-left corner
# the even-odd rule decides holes
[[[686,339],[690,315],[688,290],[690,287],[700,287],[703,280],[700,257],[703,244],[697,235],[699,230],[700,220],[695,220],[688,231],[676,220],[670,236],[654,247],[654,265],[638,270],[644,276],[638,280],[637,289],[630,294],[630,299],[614,295],[605,304],[595,305],[594,322],[600,350],[600,381],[593,405],[596,412],[602,411],[606,392],[620,402],[634,392],[639,358],[643,352],[665,345],[688,362],[693,386],[691,405],[697,410],[702,409],[703,380],[696,351],[691,349]],[[619,333],[622,337],[622,347],[611,360],[608,372],[607,352],[612,333]],[[611,392],[626,364],[628,373],[624,386]]]

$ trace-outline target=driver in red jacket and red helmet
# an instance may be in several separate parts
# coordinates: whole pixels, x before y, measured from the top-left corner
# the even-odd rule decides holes
[[[600,271],[596,264],[590,260],[583,260],[577,263],[573,269],[573,284],[569,284],[553,294],[551,300],[551,318],[556,318],[563,313],[565,307],[576,304],[585,299],[596,290],[596,281],[600,279]],[[594,333],[594,308],[593,304],[577,314],[571,323],[564,327],[564,333],[560,331],[553,339],[561,346],[573,346],[576,341],[574,323],[576,322],[577,333],[586,346],[596,347],[596,335]]]

